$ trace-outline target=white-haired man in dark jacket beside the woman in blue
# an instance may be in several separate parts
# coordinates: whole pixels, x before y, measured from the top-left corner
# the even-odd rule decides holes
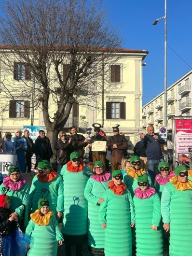
[[[27,172],[31,172],[31,157],[33,156],[34,152],[34,143],[32,139],[29,137],[29,131],[24,130],[24,136],[22,136],[27,141],[27,151],[25,152],[26,158],[26,170]]]

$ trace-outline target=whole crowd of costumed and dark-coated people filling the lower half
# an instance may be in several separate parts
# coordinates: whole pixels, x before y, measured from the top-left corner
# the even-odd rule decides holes
[[[72,246],[82,256],[87,242],[92,256],[190,256],[192,171],[170,167],[162,154],[164,140],[151,126],[134,156],[127,155],[118,126],[109,140],[100,127],[94,129],[91,141],[74,127],[70,137],[59,133],[57,171],[41,130],[35,142],[38,172],[30,188],[22,164],[9,167],[0,185],[1,254],[56,256],[57,245],[64,242],[66,256],[72,255]],[[15,149],[24,149],[21,134],[16,137]],[[93,151],[92,162],[83,162],[83,148],[91,149],[97,140],[111,151],[111,168],[104,151]]]

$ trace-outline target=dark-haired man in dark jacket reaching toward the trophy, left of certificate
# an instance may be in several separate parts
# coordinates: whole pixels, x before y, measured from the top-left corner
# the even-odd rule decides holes
[[[81,134],[77,134],[77,128],[75,126],[72,126],[69,129],[70,129],[70,134],[72,139],[71,152],[78,151],[80,158],[83,158],[83,154],[84,154],[83,147],[86,147],[88,145],[88,139],[86,139]]]

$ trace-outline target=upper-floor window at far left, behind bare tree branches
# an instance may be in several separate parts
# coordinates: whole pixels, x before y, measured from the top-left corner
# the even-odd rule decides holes
[[[27,63],[14,62],[14,79],[15,80],[30,80],[31,72]]]

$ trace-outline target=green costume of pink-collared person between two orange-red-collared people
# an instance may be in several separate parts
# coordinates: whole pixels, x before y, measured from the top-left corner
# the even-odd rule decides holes
[[[84,196],[88,201],[88,244],[95,248],[104,248],[104,228],[101,227],[98,220],[100,207],[98,200],[108,189],[109,179],[105,182],[99,182],[90,178],[84,190]]]

